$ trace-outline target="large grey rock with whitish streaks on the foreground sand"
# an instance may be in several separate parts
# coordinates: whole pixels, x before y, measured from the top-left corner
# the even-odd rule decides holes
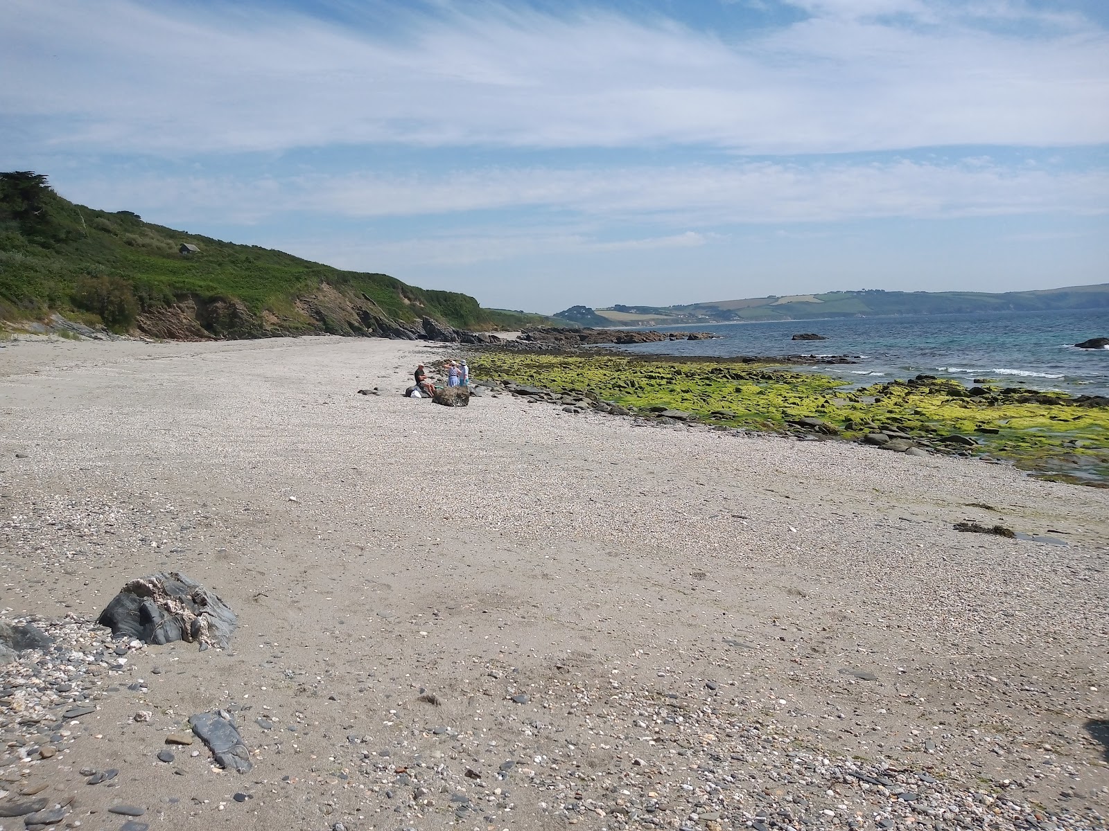
[[[213,592],[177,572],[160,572],[123,586],[96,623],[116,637],[147,644],[184,640],[226,648],[236,620]]]

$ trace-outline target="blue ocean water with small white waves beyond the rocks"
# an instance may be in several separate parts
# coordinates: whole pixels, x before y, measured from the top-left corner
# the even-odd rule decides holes
[[[856,387],[925,372],[970,383],[989,378],[1014,387],[1109,396],[1109,349],[1076,349],[1109,337],[1109,309],[775,320],[654,327],[712,331],[714,340],[621,347],[635,352],[729,358],[744,355],[847,355],[858,362],[810,367]],[[791,340],[816,332],[827,340]]]

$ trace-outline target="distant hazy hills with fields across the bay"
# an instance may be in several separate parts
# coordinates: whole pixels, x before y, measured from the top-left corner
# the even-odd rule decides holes
[[[952,315],[984,311],[1109,309],[1109,284],[1040,291],[828,291],[822,295],[752,297],[685,306],[622,306],[591,309],[574,306],[559,312],[581,325],[667,326],[730,320],[815,320],[884,315]],[[587,320],[591,322],[587,322]]]

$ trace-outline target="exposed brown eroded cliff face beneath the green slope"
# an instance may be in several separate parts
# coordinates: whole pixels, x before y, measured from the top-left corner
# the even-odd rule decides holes
[[[142,335],[164,340],[238,340],[294,335],[471,343],[488,340],[485,336],[455,329],[426,316],[415,322],[397,320],[386,315],[368,296],[340,291],[326,283],[297,298],[285,316],[271,310],[255,314],[240,300],[203,300],[191,296],[180,298],[172,306],[141,314],[135,328]]]

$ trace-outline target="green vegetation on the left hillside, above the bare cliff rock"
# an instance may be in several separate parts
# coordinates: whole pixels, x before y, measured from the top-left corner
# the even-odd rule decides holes
[[[183,257],[182,243],[200,253]],[[174,230],[129,212],[74,205],[44,181],[35,185],[0,174],[0,319],[58,310],[95,322],[96,310],[82,300],[91,278],[130,286],[140,311],[186,296],[237,299],[255,315],[269,312],[294,327],[304,322],[294,301],[321,283],[364,294],[400,321],[428,315],[460,328],[503,329],[533,325],[537,317],[482,309],[468,295],[425,290],[384,274],[344,271],[278,250]]]

